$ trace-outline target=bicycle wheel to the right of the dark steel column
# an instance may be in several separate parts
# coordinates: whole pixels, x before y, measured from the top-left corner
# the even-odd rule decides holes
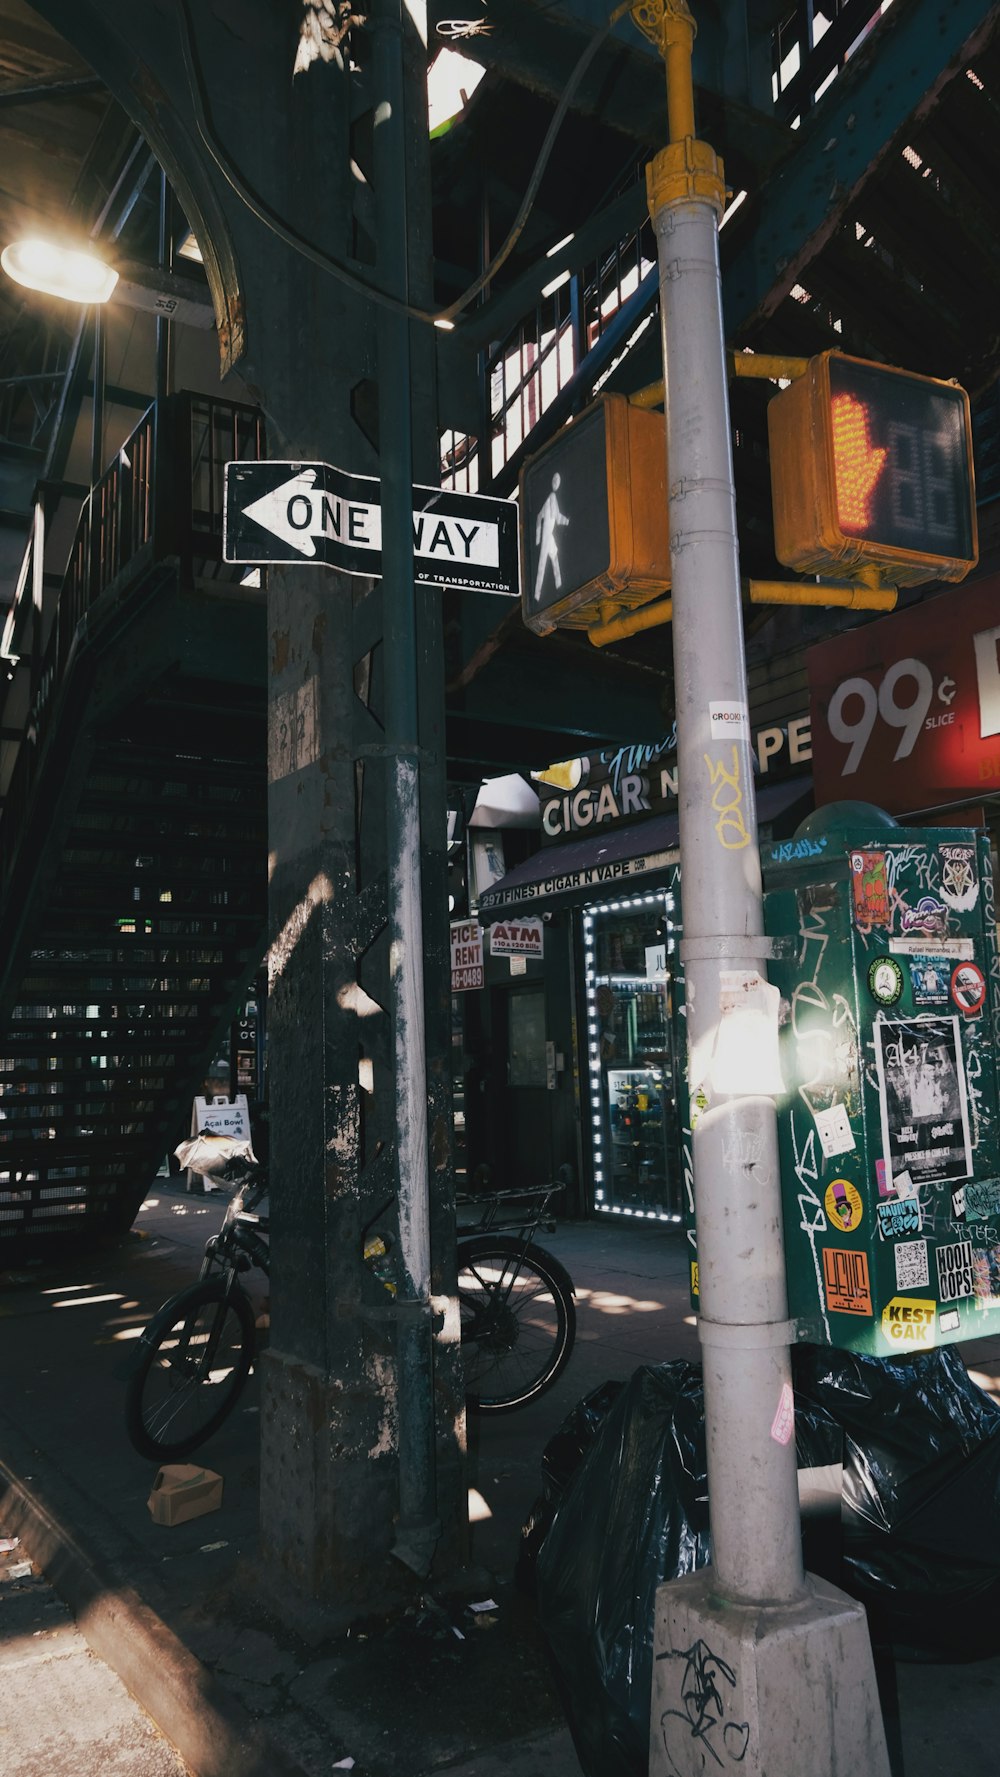
[[[481,1235],[458,1247],[465,1397],[472,1413],[512,1413],[563,1374],[575,1338],[572,1285],[542,1247]]]

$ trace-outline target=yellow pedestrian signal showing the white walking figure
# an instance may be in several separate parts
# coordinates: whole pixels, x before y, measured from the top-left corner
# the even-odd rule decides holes
[[[520,471],[520,610],[590,629],[670,586],[663,414],[602,394]]]

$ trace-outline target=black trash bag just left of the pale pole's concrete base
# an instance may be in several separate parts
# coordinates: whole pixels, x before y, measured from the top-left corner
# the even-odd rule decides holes
[[[799,1466],[840,1461],[822,1407]],[[538,1619],[588,1777],[647,1777],[655,1589],[709,1560],[705,1407],[693,1363],[643,1365],[597,1429],[538,1553]],[[815,1569],[813,1569],[815,1571]]]

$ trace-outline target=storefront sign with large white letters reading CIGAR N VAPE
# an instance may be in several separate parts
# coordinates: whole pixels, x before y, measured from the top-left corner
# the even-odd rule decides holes
[[[758,782],[806,771],[810,718],[755,729],[751,748]],[[561,785],[538,782],[542,841],[552,844],[591,826],[615,826],[643,814],[677,809],[677,730],[652,746],[618,746],[556,766]]]

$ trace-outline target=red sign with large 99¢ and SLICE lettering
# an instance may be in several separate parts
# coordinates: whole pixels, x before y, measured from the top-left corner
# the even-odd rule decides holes
[[[806,654],[815,798],[918,814],[1000,791],[1000,578]]]

